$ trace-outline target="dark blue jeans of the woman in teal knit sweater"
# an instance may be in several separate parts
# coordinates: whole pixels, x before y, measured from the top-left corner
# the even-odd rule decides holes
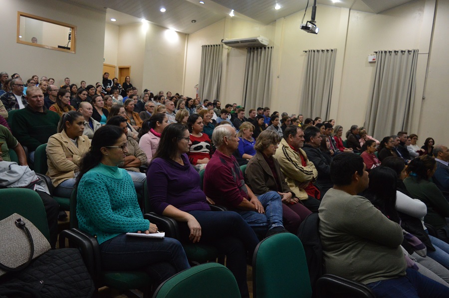
[[[172,238],[151,239],[120,234],[100,244],[106,271],[145,271],[157,284],[190,268],[183,246]]]

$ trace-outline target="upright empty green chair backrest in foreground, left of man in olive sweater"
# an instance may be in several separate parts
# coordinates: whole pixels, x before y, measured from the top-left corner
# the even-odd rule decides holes
[[[262,240],[252,259],[254,298],[310,298],[307,261],[298,237],[290,233]]]

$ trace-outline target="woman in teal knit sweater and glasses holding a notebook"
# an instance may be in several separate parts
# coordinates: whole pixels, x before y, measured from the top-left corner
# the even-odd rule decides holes
[[[162,283],[190,266],[178,240],[126,235],[158,229],[143,218],[131,176],[117,166],[125,158],[127,144],[118,127],[106,125],[95,132],[77,177],[79,228],[97,236],[104,270],[142,270]]]

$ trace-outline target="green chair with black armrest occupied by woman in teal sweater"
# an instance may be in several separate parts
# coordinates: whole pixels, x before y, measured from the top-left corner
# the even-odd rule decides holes
[[[76,216],[77,188],[74,188],[70,198],[70,229],[59,234],[59,247],[65,247],[68,239],[71,247],[79,247],[84,263],[94,280],[96,289],[103,286],[118,290],[140,289],[144,297],[151,295],[151,279],[143,271],[103,271],[100,262],[100,246],[97,238],[78,229]]]

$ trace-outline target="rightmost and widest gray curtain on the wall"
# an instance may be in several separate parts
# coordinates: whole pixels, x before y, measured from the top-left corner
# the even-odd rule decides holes
[[[378,51],[376,60],[365,125],[380,140],[411,128],[418,50]]]

